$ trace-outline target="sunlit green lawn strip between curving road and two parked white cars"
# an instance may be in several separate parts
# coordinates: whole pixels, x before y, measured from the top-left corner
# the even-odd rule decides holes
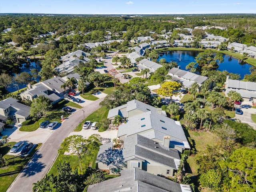
[[[90,114],[87,118],[85,118],[77,127],[74,131],[81,131],[82,126],[84,122],[90,121],[90,122],[99,122],[103,118],[107,118],[108,116],[108,110],[105,106],[99,108],[98,110],[94,111],[92,114]]]

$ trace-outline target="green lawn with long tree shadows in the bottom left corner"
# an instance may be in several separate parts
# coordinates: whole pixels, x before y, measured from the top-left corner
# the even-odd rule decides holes
[[[3,146],[1,147],[0,154],[6,158],[9,162],[7,167],[0,168],[0,191],[6,191],[9,186],[12,184],[16,176],[20,173],[20,171],[24,168],[33,154],[38,150],[41,146],[37,144],[36,147],[28,154],[28,156],[14,156],[14,155],[7,155],[8,151],[12,148],[15,142],[8,142],[10,146]]]

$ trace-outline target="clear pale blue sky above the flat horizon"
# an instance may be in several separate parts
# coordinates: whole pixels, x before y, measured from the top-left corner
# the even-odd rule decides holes
[[[256,0],[0,0],[0,13],[256,14]]]

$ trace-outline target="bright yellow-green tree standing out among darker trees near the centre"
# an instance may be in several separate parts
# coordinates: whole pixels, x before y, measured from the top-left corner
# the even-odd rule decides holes
[[[161,88],[157,90],[157,94],[170,97],[170,102],[172,103],[172,96],[178,94],[175,90],[180,90],[180,88],[181,84],[176,81],[166,81],[161,85]]]

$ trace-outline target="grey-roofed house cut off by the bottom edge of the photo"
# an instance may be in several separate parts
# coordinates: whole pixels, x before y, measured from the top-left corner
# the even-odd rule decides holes
[[[192,192],[190,185],[150,174],[138,168],[123,170],[121,176],[90,185],[87,192]]]

